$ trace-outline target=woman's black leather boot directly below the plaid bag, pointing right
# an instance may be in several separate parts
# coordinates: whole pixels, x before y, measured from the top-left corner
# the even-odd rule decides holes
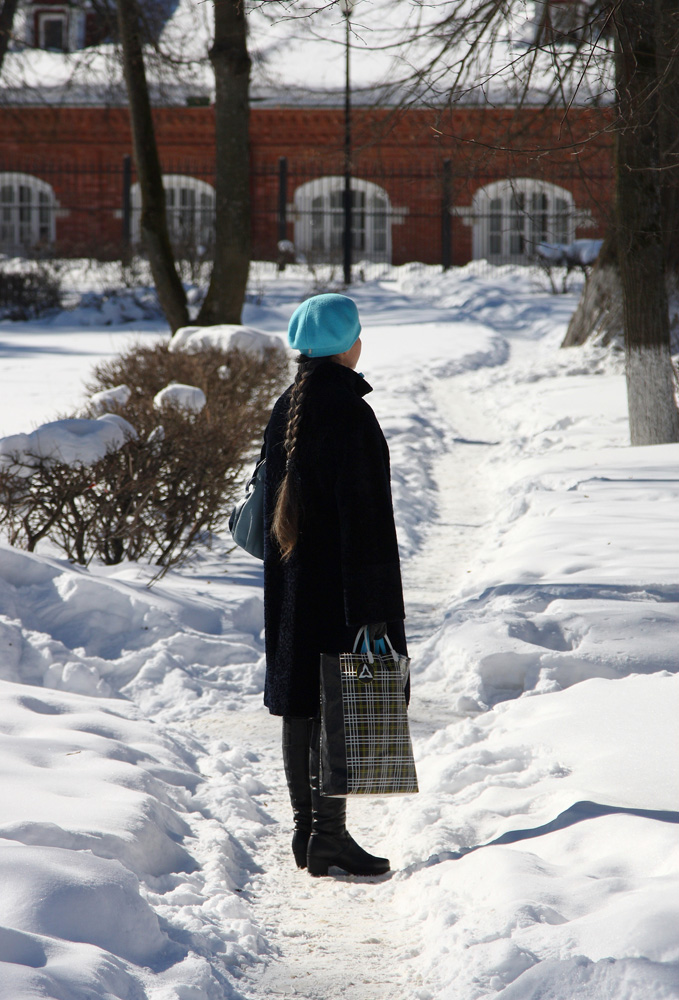
[[[307,851],[310,875],[327,875],[334,865],[350,875],[383,875],[389,871],[386,858],[368,854],[351,837],[346,828],[347,803],[344,798],[321,795],[320,790],[321,728],[314,720],[309,754],[311,782],[311,837]]]

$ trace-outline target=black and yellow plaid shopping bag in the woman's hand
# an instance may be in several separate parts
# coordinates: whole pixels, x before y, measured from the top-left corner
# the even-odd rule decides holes
[[[418,791],[404,694],[410,660],[389,649],[321,654],[323,795]]]

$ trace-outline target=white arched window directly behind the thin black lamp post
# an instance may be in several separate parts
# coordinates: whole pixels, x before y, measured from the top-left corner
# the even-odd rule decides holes
[[[391,260],[391,202],[371,181],[352,178],[352,246],[356,260]],[[344,177],[319,177],[295,191],[295,247],[310,260],[342,259]]]

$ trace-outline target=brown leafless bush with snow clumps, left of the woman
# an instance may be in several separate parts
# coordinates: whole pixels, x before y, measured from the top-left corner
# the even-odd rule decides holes
[[[274,347],[259,356],[188,353],[166,341],[103,362],[79,420],[45,427],[126,421],[126,440],[91,458],[31,443],[45,428],[0,442],[0,524],[12,544],[32,551],[49,537],[83,564],[180,562],[225,522],[288,374],[286,353]]]

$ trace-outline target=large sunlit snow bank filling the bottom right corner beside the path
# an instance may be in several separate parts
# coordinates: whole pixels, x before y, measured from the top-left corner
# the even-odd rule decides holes
[[[392,836],[433,995],[600,998],[630,975],[648,989],[630,996],[673,995],[678,709],[677,677],[592,680],[421,748],[420,799],[394,811]]]

